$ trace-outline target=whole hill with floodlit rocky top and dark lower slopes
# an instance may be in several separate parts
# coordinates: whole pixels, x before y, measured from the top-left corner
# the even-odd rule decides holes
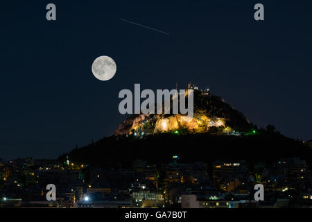
[[[162,127],[166,121],[166,128]],[[247,160],[272,163],[283,157],[312,161],[312,149],[275,131],[257,128],[224,99],[194,91],[194,118],[181,123],[179,114],[136,114],[125,119],[111,137],[66,153],[73,162],[101,167],[130,167],[137,159],[161,164],[178,155],[182,162]]]

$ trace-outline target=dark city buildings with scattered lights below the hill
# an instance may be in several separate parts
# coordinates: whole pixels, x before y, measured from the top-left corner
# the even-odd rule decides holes
[[[130,169],[102,169],[56,160],[1,162],[1,207],[311,207],[311,170],[299,157],[254,169],[238,162],[183,163],[179,156],[157,166],[136,160]],[[44,185],[54,182],[55,201]],[[256,202],[253,187],[266,187]]]

